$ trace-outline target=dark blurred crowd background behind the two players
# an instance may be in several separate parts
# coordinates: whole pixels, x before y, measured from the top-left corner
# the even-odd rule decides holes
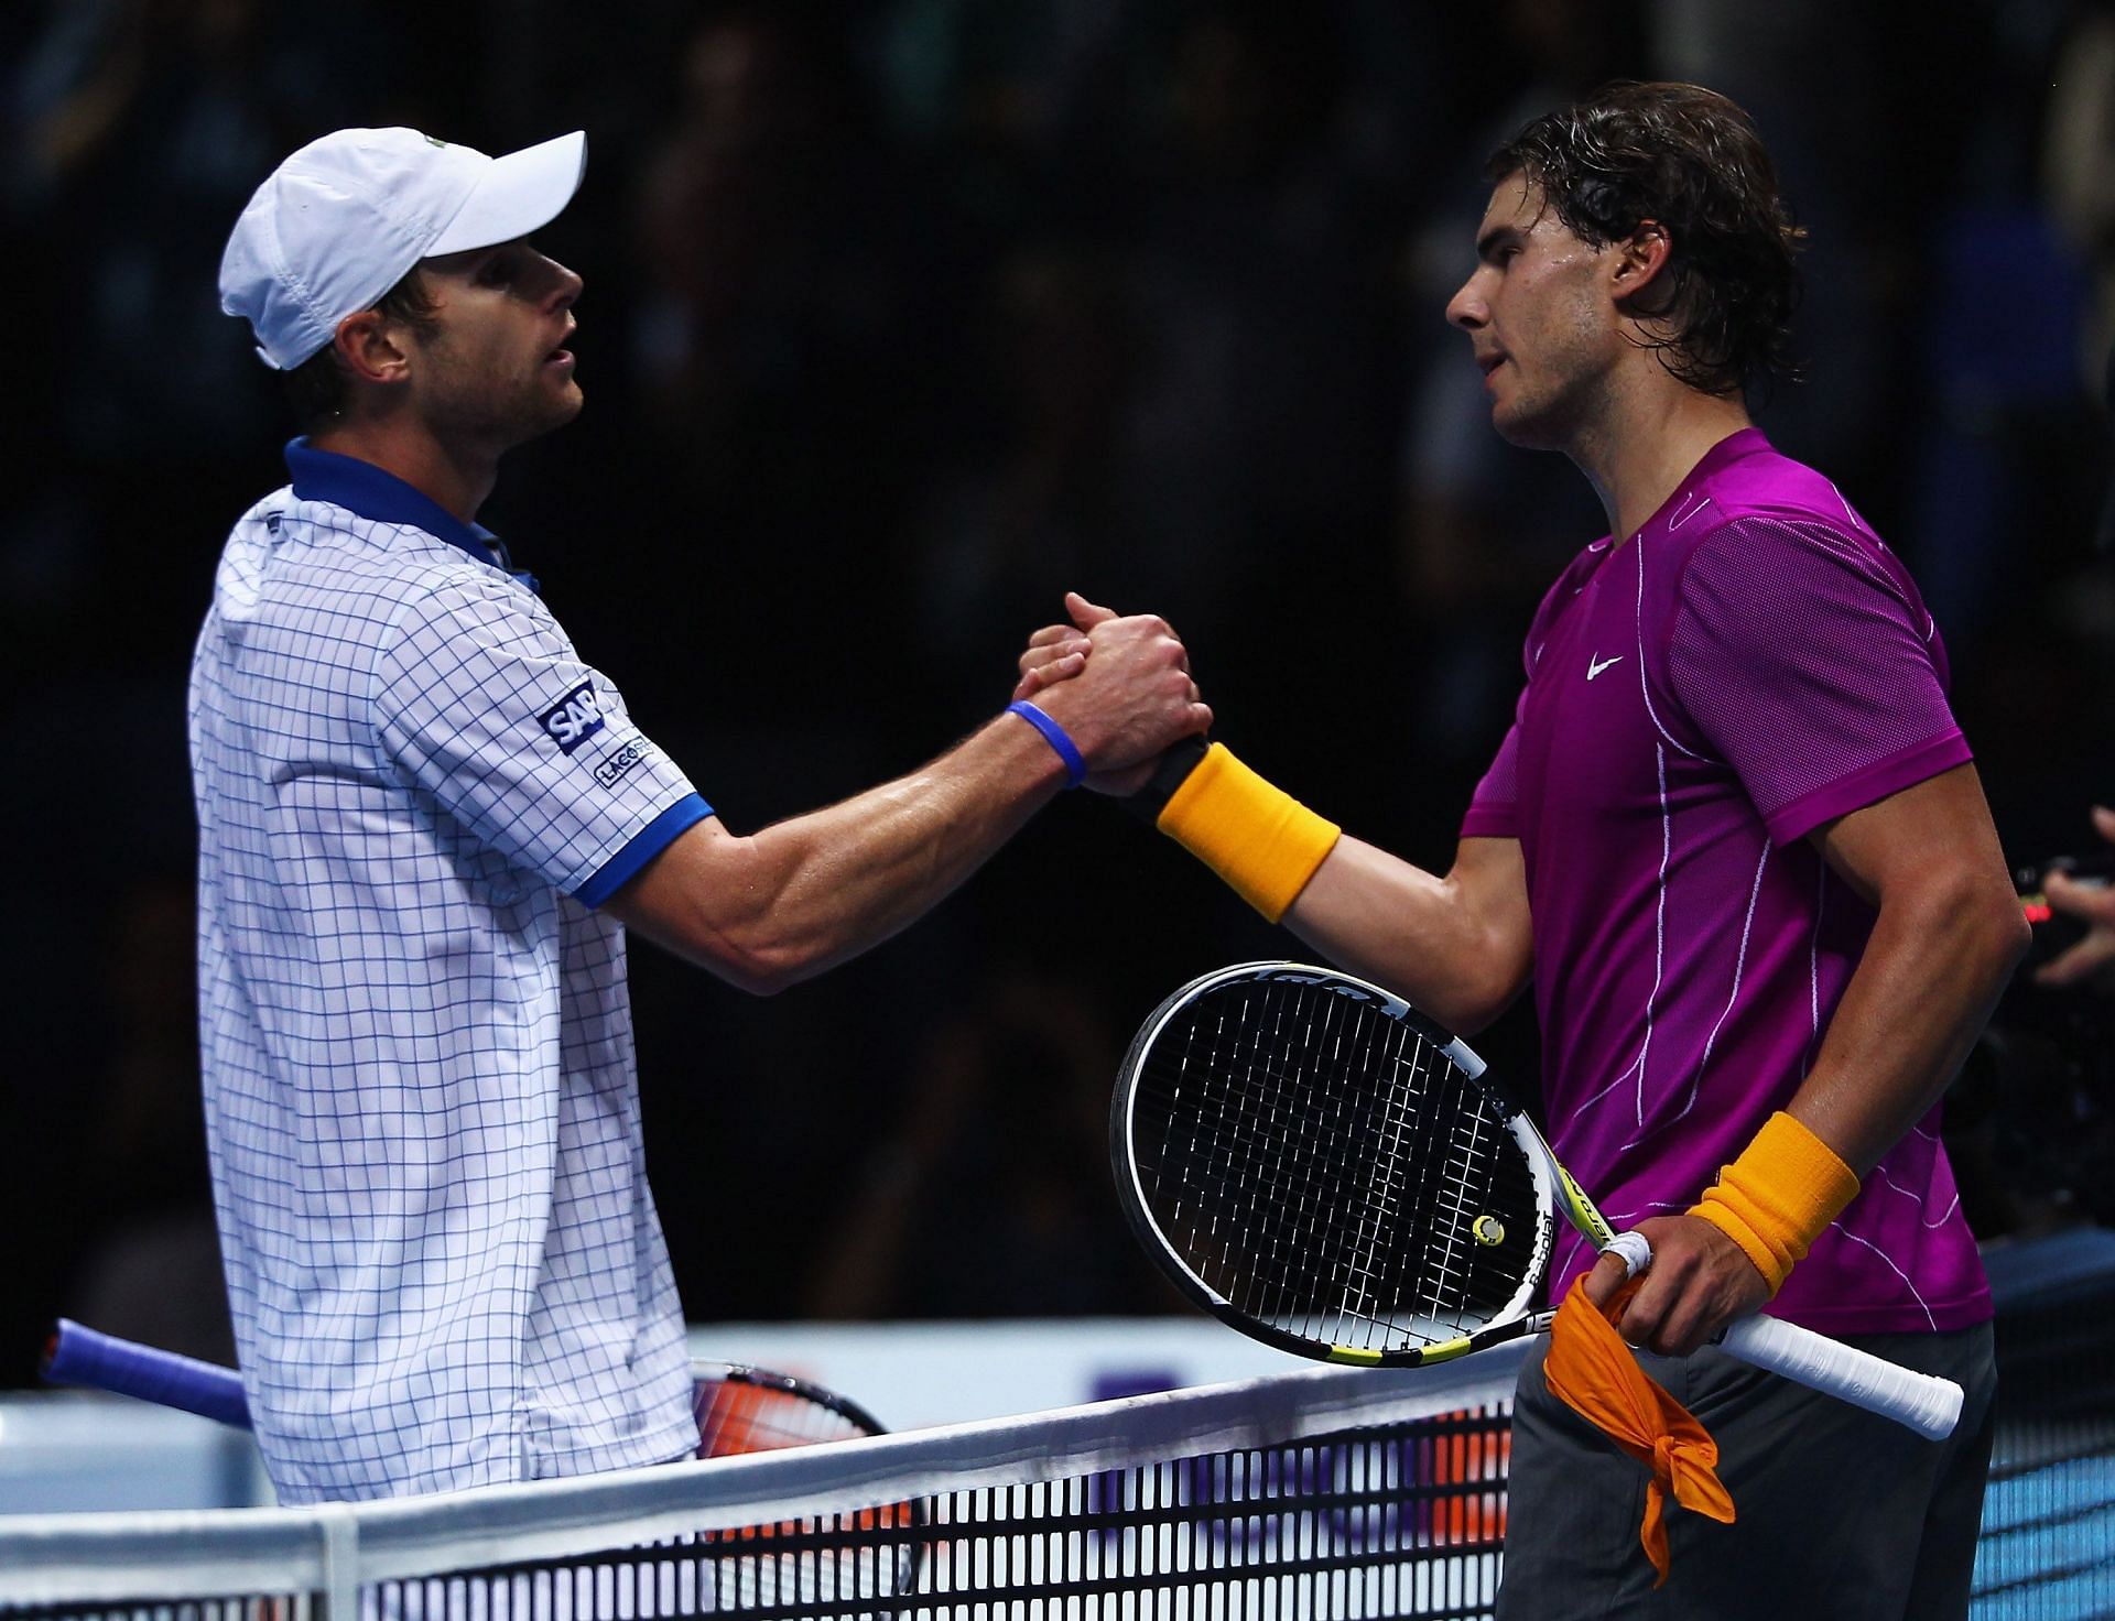
[[[2111,4],[47,0],[0,53],[0,1384],[57,1312],[231,1355],[184,678],[292,429],[214,283],[341,125],[588,131],[539,237],[586,277],[588,410],[482,516],[734,828],[996,712],[1079,588],[1176,623],[1250,763],[1445,864],[1601,533],[1440,317],[1483,156],[1610,76],[1713,85],[1813,232],[1810,380],[1760,421],[1916,571],[2009,856],[2115,797]],[[772,1002],[635,945],[689,1317],[1174,1308],[1108,1192],[1115,1063],[1182,979],[1296,949],[1089,795]],[[2001,1023],[1954,1124],[1980,1230],[2109,1219],[2104,1027],[2024,991]],[[1521,1010],[1481,1044],[1533,1074]]]

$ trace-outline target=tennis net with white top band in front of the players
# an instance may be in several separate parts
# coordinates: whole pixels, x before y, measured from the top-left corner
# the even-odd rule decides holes
[[[2115,1619],[2115,1234],[1992,1255],[1978,1621]],[[1523,1346],[444,1498],[0,1520],[6,1621],[1489,1617]]]

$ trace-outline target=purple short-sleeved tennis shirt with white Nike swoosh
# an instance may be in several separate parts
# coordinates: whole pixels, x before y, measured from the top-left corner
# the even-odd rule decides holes
[[[1874,913],[1804,835],[1967,759],[1908,571],[1755,429],[1550,588],[1461,835],[1521,841],[1548,1135],[1618,1230],[1694,1205],[1815,1061]],[[1590,1260],[1565,1230],[1555,1287]],[[1990,1317],[1937,1110],[1770,1312]]]

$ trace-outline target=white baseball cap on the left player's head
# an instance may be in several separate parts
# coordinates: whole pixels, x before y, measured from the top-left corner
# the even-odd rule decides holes
[[[235,222],[220,309],[250,321],[266,366],[290,372],[419,260],[556,220],[586,167],[577,129],[503,159],[417,129],[324,135],[273,169]]]

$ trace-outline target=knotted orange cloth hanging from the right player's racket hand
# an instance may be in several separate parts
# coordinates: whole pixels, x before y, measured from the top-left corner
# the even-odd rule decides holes
[[[1652,1471],[1645,1488],[1645,1524],[1639,1541],[1654,1587],[1667,1583],[1667,1494],[1696,1513],[1732,1524],[1732,1496],[1717,1477],[1717,1441],[1696,1416],[1662,1391],[1616,1334],[1616,1319],[1643,1279],[1633,1279],[1601,1310],[1586,1300],[1586,1279],[1576,1279],[1550,1327],[1542,1372],[1557,1399],[1595,1424],[1616,1446]]]

